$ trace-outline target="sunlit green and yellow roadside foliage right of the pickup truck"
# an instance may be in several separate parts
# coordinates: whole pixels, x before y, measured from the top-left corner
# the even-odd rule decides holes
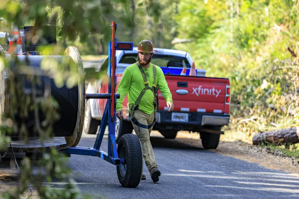
[[[298,125],[298,116],[290,114],[298,111],[298,60],[293,60],[299,54],[298,5],[289,0],[180,1],[178,37],[193,41],[175,48],[188,51],[207,76],[230,79],[228,128],[253,136]]]

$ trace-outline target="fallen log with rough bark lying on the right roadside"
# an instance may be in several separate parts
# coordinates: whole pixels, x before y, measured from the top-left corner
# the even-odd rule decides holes
[[[257,133],[252,138],[252,143],[254,145],[261,145],[262,143],[277,145],[299,143],[299,127]]]

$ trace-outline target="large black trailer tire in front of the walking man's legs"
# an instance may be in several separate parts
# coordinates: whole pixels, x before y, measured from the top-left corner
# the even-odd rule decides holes
[[[137,135],[125,134],[117,146],[120,159],[125,159],[126,166],[116,166],[120,184],[124,187],[136,187],[142,175],[142,149]]]

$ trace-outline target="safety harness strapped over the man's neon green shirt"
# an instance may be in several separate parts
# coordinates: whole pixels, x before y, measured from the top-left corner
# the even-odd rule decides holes
[[[158,85],[156,85],[156,66],[154,64],[152,64],[152,70],[153,70],[153,76],[154,76],[154,83],[153,83],[152,87],[149,87],[149,81],[147,80],[145,73],[144,73],[141,65],[139,64],[139,62],[136,62],[135,64],[138,66],[138,68],[142,74],[143,83],[144,83],[145,88],[141,91],[140,95],[138,96],[135,104],[133,104],[132,108],[129,109],[129,117],[130,117],[130,120],[139,127],[139,131],[140,131],[140,127],[144,128],[144,129],[149,129],[150,127],[152,127],[155,124],[155,121],[158,120],[158,118],[159,118]],[[138,109],[138,104],[147,89],[151,90],[155,95],[155,101],[153,103],[154,109],[155,109],[155,118],[154,118],[154,121],[152,122],[152,124],[150,124],[150,125],[140,124],[137,121],[137,119],[134,117],[134,111]],[[158,109],[158,118],[156,119],[157,109]]]

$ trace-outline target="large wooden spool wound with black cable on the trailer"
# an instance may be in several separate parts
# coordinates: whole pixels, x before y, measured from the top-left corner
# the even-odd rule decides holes
[[[68,47],[64,55],[60,56],[17,55],[12,59],[9,54],[5,54],[4,57],[5,65],[9,67],[11,71],[18,69],[19,64],[16,63],[29,67],[29,69],[33,71],[34,77],[37,77],[39,80],[39,83],[35,84],[34,90],[32,89],[31,81],[26,79],[22,73],[15,75],[14,85],[23,90],[22,95],[28,96],[42,97],[45,95],[45,91],[48,90],[59,105],[60,119],[53,124],[55,137],[64,137],[69,147],[77,146],[82,135],[84,123],[85,83],[84,81],[79,81],[78,84],[70,88],[65,85],[65,82],[63,82],[63,85],[57,85],[54,81],[54,73],[51,73],[51,70],[43,69],[41,66],[42,61],[45,60],[56,61],[63,67],[66,67],[68,69],[67,72],[77,70],[79,75],[83,75],[83,62],[79,51],[75,47]],[[9,88],[7,88],[8,84],[5,80],[4,72],[5,71],[2,70],[0,73],[1,115],[7,113],[10,100],[9,93],[7,93]],[[28,115],[26,117],[21,117],[20,113],[17,112],[15,119],[18,124],[26,124],[28,137],[32,138],[38,136],[36,130],[34,130],[36,117],[32,110],[28,109]],[[39,111],[39,121],[41,122],[44,119],[45,115],[42,111]]]

